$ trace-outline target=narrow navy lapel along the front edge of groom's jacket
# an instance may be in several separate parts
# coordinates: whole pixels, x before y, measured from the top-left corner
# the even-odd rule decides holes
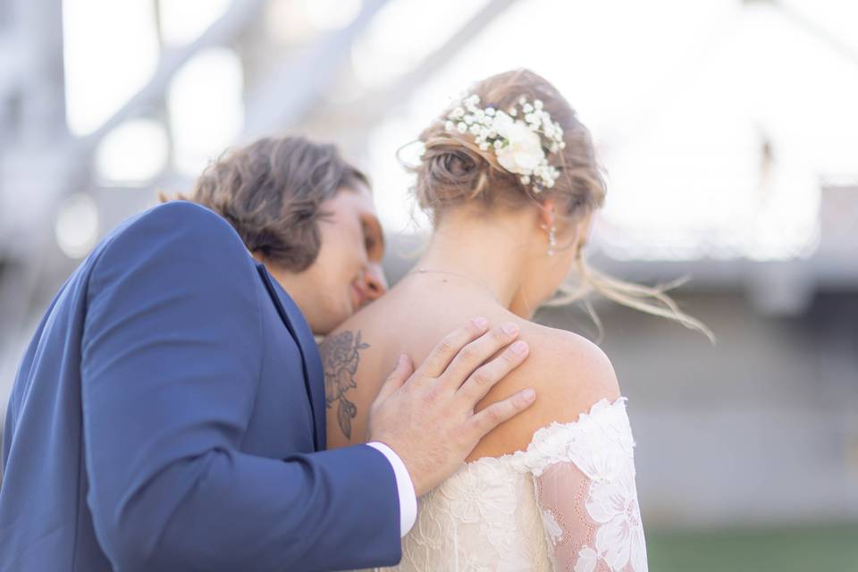
[[[304,386],[307,390],[307,398],[313,411],[313,444],[315,450],[324,450],[326,443],[324,426],[324,377],[322,370],[322,358],[315,345],[313,332],[297,304],[290,298],[286,290],[274,280],[265,265],[257,263],[257,271],[265,289],[273,300],[274,307],[280,315],[286,329],[289,330],[301,354],[301,368],[304,373]]]

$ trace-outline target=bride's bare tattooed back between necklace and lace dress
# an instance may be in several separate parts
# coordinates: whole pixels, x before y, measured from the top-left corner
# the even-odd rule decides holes
[[[536,429],[574,421],[593,403],[619,396],[610,361],[592,342],[528,322],[467,282],[444,274],[408,276],[383,299],[352,316],[320,346],[325,373],[328,447],[366,442],[367,413],[400,354],[420,363],[442,336],[469,317],[513,322],[530,355],[477,406],[534,387],[536,402],[479,442],[468,460],[524,450]]]

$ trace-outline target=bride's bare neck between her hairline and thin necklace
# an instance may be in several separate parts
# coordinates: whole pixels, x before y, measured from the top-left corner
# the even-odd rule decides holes
[[[511,308],[526,275],[523,227],[515,218],[445,214],[416,270],[458,275]]]

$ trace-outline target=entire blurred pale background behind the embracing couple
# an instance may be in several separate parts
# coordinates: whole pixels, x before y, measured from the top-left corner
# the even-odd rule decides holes
[[[80,258],[231,144],[338,143],[395,281],[428,228],[397,149],[524,66],[607,169],[593,265],[691,275],[677,299],[719,337],[595,304],[651,569],[858,571],[856,25],[842,0],[0,0],[0,416]]]

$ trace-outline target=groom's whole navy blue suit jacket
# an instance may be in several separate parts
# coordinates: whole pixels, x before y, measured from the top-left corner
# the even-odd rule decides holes
[[[223,218],[172,202],[126,221],[21,361],[0,571],[397,562],[391,464],[321,451],[322,376],[298,307]]]

